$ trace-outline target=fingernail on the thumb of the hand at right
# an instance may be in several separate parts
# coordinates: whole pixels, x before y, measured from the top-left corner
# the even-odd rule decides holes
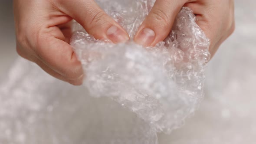
[[[154,39],[154,31],[152,29],[144,28],[143,30],[141,30],[138,36],[135,37],[135,43],[138,43],[142,46],[150,46],[151,43],[153,43]]]

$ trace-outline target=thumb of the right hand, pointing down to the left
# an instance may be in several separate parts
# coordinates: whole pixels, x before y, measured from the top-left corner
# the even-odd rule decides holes
[[[185,0],[156,0],[154,7],[135,35],[135,43],[154,46],[170,33]]]

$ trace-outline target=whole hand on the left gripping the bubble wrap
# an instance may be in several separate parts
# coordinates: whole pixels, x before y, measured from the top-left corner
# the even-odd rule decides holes
[[[14,0],[14,17],[19,55],[73,85],[82,84],[83,71],[69,45],[72,19],[96,39],[129,39],[94,0]]]

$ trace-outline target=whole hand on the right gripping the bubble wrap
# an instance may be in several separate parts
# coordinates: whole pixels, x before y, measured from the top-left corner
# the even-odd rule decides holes
[[[220,44],[234,31],[233,0],[156,0],[139,27],[135,42],[143,46],[154,46],[163,41],[183,6],[194,11],[197,24],[210,39],[209,51],[213,56]]]

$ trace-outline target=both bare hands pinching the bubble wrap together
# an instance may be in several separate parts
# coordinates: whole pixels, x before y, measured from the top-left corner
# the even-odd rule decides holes
[[[19,55],[72,85],[81,85],[84,74],[69,44],[71,20],[80,23],[96,39],[109,39],[113,43],[130,39],[94,0],[13,1]],[[234,31],[233,0],[156,0],[135,34],[135,43],[154,46],[163,41],[183,6],[190,7],[196,14],[197,24],[210,39],[209,50],[213,56]]]

